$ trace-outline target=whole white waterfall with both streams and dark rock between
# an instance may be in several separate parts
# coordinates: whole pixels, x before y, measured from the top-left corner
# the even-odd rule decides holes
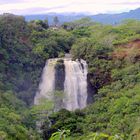
[[[39,104],[41,98],[54,102],[56,98],[61,98],[59,103],[56,103],[57,108],[75,110],[86,107],[88,96],[87,63],[82,59],[72,61],[71,58],[63,58],[64,67],[57,68],[59,60],[49,59],[46,62],[34,104]],[[55,96],[57,89],[63,91],[62,97]]]

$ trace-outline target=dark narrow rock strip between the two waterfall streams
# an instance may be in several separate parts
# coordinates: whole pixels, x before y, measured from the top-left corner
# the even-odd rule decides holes
[[[65,65],[64,60],[60,59],[57,61],[55,66],[55,89],[64,90],[65,81]]]

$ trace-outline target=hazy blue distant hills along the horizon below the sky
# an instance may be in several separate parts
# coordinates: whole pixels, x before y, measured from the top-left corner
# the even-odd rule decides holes
[[[51,25],[51,24],[53,24],[54,16],[57,16],[59,18],[60,24],[62,24],[64,22],[70,22],[73,20],[84,18],[84,17],[90,17],[94,21],[100,22],[103,24],[118,24],[125,19],[138,19],[138,20],[140,20],[140,8],[135,9],[135,10],[131,10],[129,12],[120,13],[120,14],[88,15],[86,13],[84,13],[84,14],[83,13],[79,13],[79,14],[75,14],[75,13],[68,13],[68,14],[49,13],[49,14],[43,14],[43,15],[27,15],[27,16],[25,16],[25,19],[27,21],[30,21],[30,20],[36,20],[36,19],[44,20],[47,18],[49,21],[49,24]]]

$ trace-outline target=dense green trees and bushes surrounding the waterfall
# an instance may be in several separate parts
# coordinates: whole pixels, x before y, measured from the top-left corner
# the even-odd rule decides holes
[[[88,63],[93,103],[74,112],[54,112],[46,101],[32,106],[46,59],[68,52]],[[139,21],[110,26],[85,18],[49,28],[47,20],[0,16],[0,139],[138,140],[139,124]]]

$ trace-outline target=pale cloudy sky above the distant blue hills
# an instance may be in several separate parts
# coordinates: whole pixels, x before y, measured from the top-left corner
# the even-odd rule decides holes
[[[140,0],[0,0],[0,14],[120,13],[139,7]]]

